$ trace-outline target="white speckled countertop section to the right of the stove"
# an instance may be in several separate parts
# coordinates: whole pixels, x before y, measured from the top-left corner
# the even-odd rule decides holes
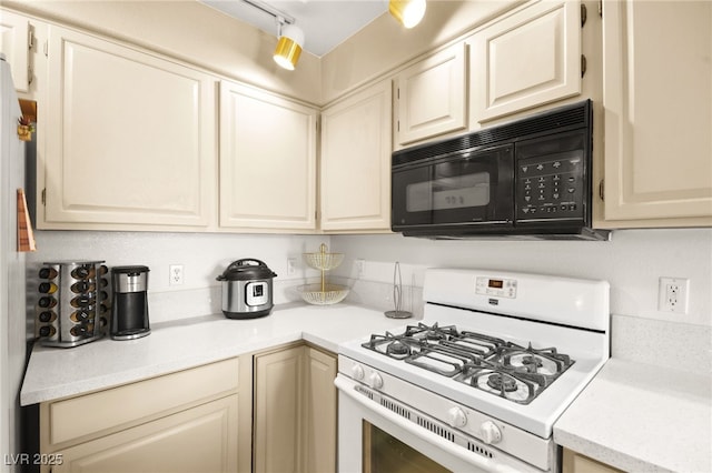
[[[712,376],[611,359],[554,441],[629,472],[711,472]]]

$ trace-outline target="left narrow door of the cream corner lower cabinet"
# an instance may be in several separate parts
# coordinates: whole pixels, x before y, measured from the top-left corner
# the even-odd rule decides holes
[[[300,472],[304,346],[255,358],[254,471]]]

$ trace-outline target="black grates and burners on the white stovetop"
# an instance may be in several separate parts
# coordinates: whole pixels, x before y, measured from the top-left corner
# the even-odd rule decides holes
[[[521,346],[437,323],[373,334],[362,346],[520,404],[532,402],[574,363],[555,348]]]

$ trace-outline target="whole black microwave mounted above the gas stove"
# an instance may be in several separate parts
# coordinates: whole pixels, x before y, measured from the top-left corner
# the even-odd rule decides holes
[[[607,240],[591,228],[592,109],[586,100],[394,152],[392,230]]]

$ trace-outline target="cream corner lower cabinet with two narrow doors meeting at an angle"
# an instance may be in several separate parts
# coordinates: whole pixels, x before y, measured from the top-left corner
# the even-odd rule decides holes
[[[257,473],[336,470],[336,358],[298,344],[255,356]]]

